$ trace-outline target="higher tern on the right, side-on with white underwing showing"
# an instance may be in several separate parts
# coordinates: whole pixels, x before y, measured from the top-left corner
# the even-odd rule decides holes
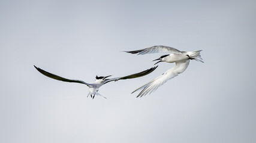
[[[131,54],[138,54],[138,55],[144,55],[144,54],[151,54],[151,53],[169,53],[167,55],[162,55],[160,58],[153,60],[158,61],[155,64],[158,64],[159,62],[167,62],[167,63],[175,63],[175,66],[171,69],[165,71],[161,76],[156,77],[155,79],[151,80],[150,82],[146,83],[145,85],[141,86],[140,88],[136,89],[135,91],[141,90],[140,94],[137,95],[137,97],[143,97],[146,94],[151,94],[152,92],[156,91],[159,86],[163,85],[167,80],[172,79],[173,77],[179,75],[180,73],[183,73],[183,71],[186,70],[188,67],[190,60],[196,60],[204,63],[201,58],[199,51],[194,52],[185,52],[185,51],[179,51],[178,49],[172,48],[170,46],[151,46],[149,48],[139,49],[135,51],[124,51]],[[133,91],[132,93],[134,93]]]

